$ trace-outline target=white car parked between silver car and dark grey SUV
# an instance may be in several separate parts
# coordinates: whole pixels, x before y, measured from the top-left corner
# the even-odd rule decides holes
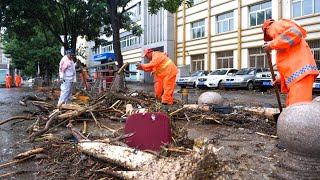
[[[234,75],[238,69],[221,68],[212,71],[208,76],[201,76],[196,80],[198,88],[218,88],[223,78]]]

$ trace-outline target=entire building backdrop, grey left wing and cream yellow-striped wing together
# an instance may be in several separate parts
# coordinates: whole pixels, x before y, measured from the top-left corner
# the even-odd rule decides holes
[[[266,19],[293,19],[307,30],[306,40],[320,61],[320,0],[194,0],[192,7],[182,5],[174,15],[161,10],[148,13],[147,0],[133,0],[127,6],[132,20],[141,25],[143,35],[121,31],[121,48],[129,71],[137,71],[137,62],[145,48],[163,51],[182,72],[217,68],[268,67],[263,45],[262,24]],[[107,38],[107,37],[106,37]],[[107,38],[110,42],[112,39]],[[88,43],[90,49],[90,43]],[[91,43],[91,46],[92,43]],[[113,52],[112,45],[90,52]],[[272,54],[275,63],[275,54]],[[186,67],[186,68],[185,68]],[[150,73],[137,71],[127,80],[152,82]]]

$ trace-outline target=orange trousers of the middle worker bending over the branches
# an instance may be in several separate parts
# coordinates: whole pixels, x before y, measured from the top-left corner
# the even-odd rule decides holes
[[[173,104],[173,92],[176,85],[176,76],[155,76],[154,94],[161,98],[161,103]]]

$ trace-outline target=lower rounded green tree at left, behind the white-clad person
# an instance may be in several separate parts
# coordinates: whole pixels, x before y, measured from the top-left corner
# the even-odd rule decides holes
[[[10,56],[11,64],[23,76],[35,77],[39,63],[40,76],[51,79],[52,75],[57,74],[57,66],[62,57],[61,46],[50,33],[39,27],[29,29],[29,33],[29,38],[25,38],[20,34],[7,32],[3,38],[4,53]]]

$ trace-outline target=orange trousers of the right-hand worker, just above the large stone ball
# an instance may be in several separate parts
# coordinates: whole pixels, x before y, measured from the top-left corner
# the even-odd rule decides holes
[[[287,95],[286,106],[300,102],[311,102],[313,82],[314,76],[307,75],[292,85]]]

